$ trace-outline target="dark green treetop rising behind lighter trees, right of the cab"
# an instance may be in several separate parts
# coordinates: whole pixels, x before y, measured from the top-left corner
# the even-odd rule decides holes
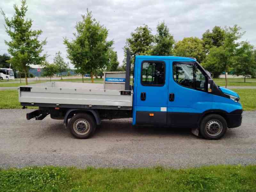
[[[202,40],[205,53],[208,54],[213,46],[220,47],[224,44],[225,30],[219,26],[212,28],[212,32],[208,29],[204,32]]]

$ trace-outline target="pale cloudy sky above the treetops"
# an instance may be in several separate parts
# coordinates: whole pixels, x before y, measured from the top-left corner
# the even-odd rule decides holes
[[[1,0],[0,7],[7,17],[14,13],[13,4],[20,5],[20,0]],[[27,0],[27,17],[33,20],[33,29],[43,30],[41,38],[47,38],[45,52],[52,62],[55,52],[61,51],[66,58],[63,37],[73,38],[77,21],[86,8],[93,17],[109,29],[109,40],[114,40],[118,60],[124,58],[125,39],[134,29],[144,23],[156,33],[159,22],[165,21],[176,41],[188,36],[202,37],[207,29],[217,26],[238,24],[246,31],[242,40],[248,40],[256,46],[256,3],[255,0],[220,1],[151,1],[151,0]],[[0,17],[0,54],[7,52],[4,40],[9,40],[4,19]]]

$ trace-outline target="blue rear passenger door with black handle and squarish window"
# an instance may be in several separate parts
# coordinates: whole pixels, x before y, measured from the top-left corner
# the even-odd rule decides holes
[[[136,124],[166,125],[169,60],[140,58],[136,67]]]

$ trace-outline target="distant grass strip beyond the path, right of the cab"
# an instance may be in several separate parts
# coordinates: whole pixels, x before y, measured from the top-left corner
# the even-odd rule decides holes
[[[224,78],[215,78],[214,82],[219,86],[225,86]],[[256,86],[256,79],[228,78],[228,86]]]

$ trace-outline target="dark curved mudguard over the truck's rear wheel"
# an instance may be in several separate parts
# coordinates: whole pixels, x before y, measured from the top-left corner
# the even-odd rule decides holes
[[[100,115],[97,110],[94,109],[69,109],[64,117],[64,124],[68,127],[68,119],[71,118],[75,113],[88,113],[95,119],[97,125],[100,125]]]

